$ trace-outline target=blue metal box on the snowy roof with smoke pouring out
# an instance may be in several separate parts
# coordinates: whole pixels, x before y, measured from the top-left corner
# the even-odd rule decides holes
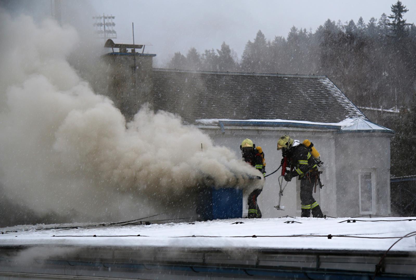
[[[243,191],[237,188],[202,188],[196,201],[196,213],[202,221],[243,216]]]

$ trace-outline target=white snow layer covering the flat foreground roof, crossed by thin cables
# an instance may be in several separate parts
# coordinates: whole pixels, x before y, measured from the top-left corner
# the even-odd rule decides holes
[[[357,218],[356,223],[339,223],[351,218],[268,218],[229,219],[206,222],[151,225],[66,224],[0,228],[0,246],[75,245],[120,247],[183,247],[244,249],[387,250],[396,240],[374,237],[401,237],[416,231],[416,218]],[[399,221],[404,220],[406,221]],[[387,221],[379,221],[387,220]],[[285,223],[296,221],[300,223]],[[233,224],[235,222],[243,222]],[[62,226],[88,228],[51,229]],[[17,231],[17,232],[11,232]],[[349,235],[317,237],[312,235]],[[54,236],[53,236],[54,235]],[[65,236],[75,235],[75,236]],[[87,236],[85,236],[87,235]],[[93,237],[92,235],[97,235]],[[103,236],[105,235],[105,236]],[[134,236],[117,236],[134,235]],[[137,236],[141,235],[141,236]],[[189,237],[196,235],[196,237]],[[199,237],[198,235],[204,235]],[[251,237],[257,235],[257,238]],[[261,235],[308,235],[299,237],[261,237]],[[217,237],[208,237],[217,236]],[[248,237],[242,237],[248,236]],[[391,250],[416,251],[415,237],[400,240]]]

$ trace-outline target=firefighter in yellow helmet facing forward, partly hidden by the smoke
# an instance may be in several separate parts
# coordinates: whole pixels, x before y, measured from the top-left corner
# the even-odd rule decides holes
[[[260,147],[257,147],[260,148]],[[253,141],[244,139],[240,146],[243,160],[260,171],[265,176],[265,163],[263,152],[256,149]],[[262,189],[256,188],[248,195],[248,218],[261,218],[261,211],[257,203],[257,197],[260,195]]]

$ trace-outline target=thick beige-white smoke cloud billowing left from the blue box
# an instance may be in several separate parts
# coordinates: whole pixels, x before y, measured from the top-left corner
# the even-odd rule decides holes
[[[68,64],[72,27],[0,18],[0,182],[13,203],[79,221],[121,218],[198,184],[244,188],[247,174],[260,175],[170,113],[145,107],[126,124]]]

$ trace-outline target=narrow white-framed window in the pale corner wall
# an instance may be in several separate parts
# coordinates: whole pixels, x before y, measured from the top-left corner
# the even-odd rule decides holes
[[[374,188],[375,188],[375,171],[362,170],[359,173],[359,200],[360,213],[372,214],[374,212]]]

